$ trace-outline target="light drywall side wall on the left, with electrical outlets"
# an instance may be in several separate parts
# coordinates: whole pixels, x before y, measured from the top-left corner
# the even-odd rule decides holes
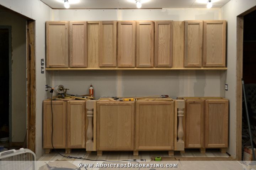
[[[44,89],[50,79],[50,73],[41,74],[40,61],[45,59],[45,22],[51,20],[52,9],[40,0],[1,0],[0,5],[36,20],[36,156],[39,159],[44,152],[42,101],[49,97]]]

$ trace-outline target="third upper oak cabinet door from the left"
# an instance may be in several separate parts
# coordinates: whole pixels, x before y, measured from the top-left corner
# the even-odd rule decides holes
[[[112,32],[108,32],[112,40],[105,40],[104,25],[111,25]],[[108,37],[109,38],[109,37]],[[106,46],[106,47],[105,47]],[[104,50],[110,49],[111,54],[105,54]],[[110,55],[110,57],[108,56]],[[103,58],[108,57],[108,63],[103,62]],[[110,60],[111,59],[111,60]],[[99,66],[100,67],[116,67],[117,62],[117,22],[116,21],[100,21],[100,50],[99,50]]]

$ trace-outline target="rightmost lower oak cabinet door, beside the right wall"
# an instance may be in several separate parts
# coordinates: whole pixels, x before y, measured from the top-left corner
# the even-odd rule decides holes
[[[224,120],[222,119],[214,119],[214,120],[210,120],[210,116],[209,116],[209,104],[225,104],[225,110],[223,111],[223,113],[225,113],[224,115]],[[206,148],[227,148],[228,147],[228,121],[229,121],[229,112],[228,112],[228,108],[229,108],[229,101],[228,100],[206,100],[205,101],[205,106],[206,106],[206,124],[205,124],[205,147]],[[217,115],[218,113],[215,113],[215,115]],[[221,113],[219,113],[221,114]],[[218,116],[218,115],[217,115]],[[223,122],[223,126],[221,127],[221,132],[219,132],[220,134],[222,134],[223,138],[221,136],[215,136],[214,139],[220,139],[221,142],[223,143],[214,143],[213,141],[209,140],[209,136],[213,135],[212,132],[210,132],[210,128],[209,126],[213,126],[211,124],[213,124],[214,121],[217,121],[217,123],[215,122],[215,124],[218,124],[220,122]],[[220,127],[220,125],[218,124],[218,127]],[[215,129],[215,131],[217,131],[217,129]]]

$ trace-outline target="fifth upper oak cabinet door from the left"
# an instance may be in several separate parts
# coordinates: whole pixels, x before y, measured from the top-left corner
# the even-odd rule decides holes
[[[137,22],[137,67],[154,67],[154,24],[152,21]]]

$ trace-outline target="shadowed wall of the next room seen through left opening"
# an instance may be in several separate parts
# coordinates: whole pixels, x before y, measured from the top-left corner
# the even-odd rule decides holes
[[[26,19],[4,9],[0,9],[0,16],[0,26],[11,26],[12,35],[10,141],[23,142],[27,131]]]

